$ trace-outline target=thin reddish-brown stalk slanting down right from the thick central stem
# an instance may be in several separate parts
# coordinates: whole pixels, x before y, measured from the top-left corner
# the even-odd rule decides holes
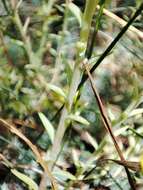
[[[108,119],[108,116],[107,116],[107,114],[106,114],[106,111],[105,111],[105,109],[104,109],[103,103],[102,103],[102,101],[101,101],[101,99],[100,99],[100,96],[99,96],[97,90],[96,90],[96,87],[95,87],[95,84],[94,84],[94,80],[93,80],[93,77],[92,77],[92,75],[91,75],[91,73],[90,73],[90,70],[89,70],[89,68],[88,68],[87,63],[88,63],[88,60],[85,59],[84,62],[83,62],[83,65],[84,65],[84,68],[85,68],[85,70],[86,70],[86,72],[87,72],[87,75],[88,75],[88,78],[89,78],[89,81],[90,81],[90,84],[91,84],[91,87],[92,87],[94,96],[95,96],[95,98],[96,98],[96,101],[97,101],[97,104],[98,104],[98,107],[99,107],[99,110],[100,110],[100,113],[101,113],[101,118],[102,118],[102,121],[103,121],[103,123],[104,123],[104,127],[105,127],[105,129],[107,130],[107,132],[110,134],[111,138],[112,138],[112,141],[113,141],[113,143],[114,143],[114,146],[115,146],[115,148],[116,148],[116,151],[117,151],[117,153],[118,153],[118,155],[119,155],[119,157],[120,157],[120,160],[121,160],[122,162],[126,163],[126,160],[125,160],[125,158],[124,158],[124,156],[123,156],[123,154],[122,154],[122,151],[121,151],[121,149],[120,149],[120,147],[119,147],[119,145],[118,145],[118,143],[117,143],[117,139],[116,139],[116,137],[114,136],[114,133],[113,133],[113,131],[112,131],[112,126],[111,126],[111,123],[110,123],[110,121],[109,121],[109,119]],[[131,189],[132,189],[132,190],[136,190],[135,184],[134,184],[134,182],[133,182],[133,179],[132,179],[132,177],[131,177],[131,174],[130,174],[130,172],[129,172],[127,166],[124,165],[124,168],[125,168],[125,171],[126,171],[126,174],[127,174],[128,181],[129,181],[129,184],[130,184]]]

